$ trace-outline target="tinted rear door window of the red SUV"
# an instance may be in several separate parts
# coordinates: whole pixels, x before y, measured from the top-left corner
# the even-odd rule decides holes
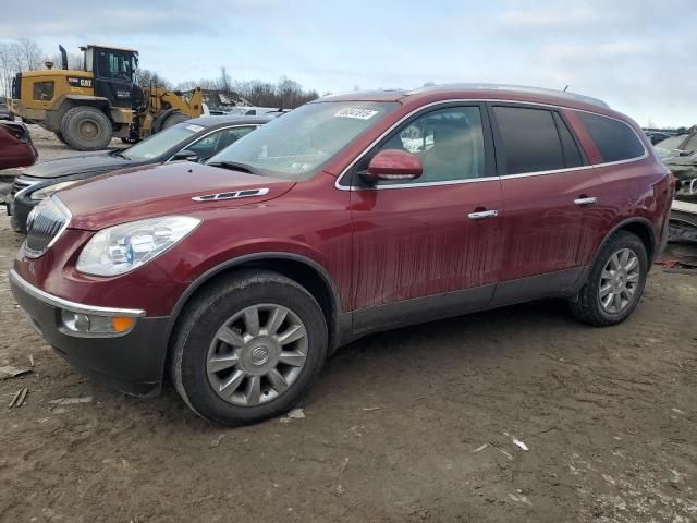
[[[501,134],[506,174],[553,171],[566,167],[551,111],[494,107],[493,114]]]

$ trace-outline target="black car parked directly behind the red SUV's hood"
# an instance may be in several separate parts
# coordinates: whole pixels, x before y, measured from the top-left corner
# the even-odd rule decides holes
[[[273,117],[203,117],[172,125],[127,149],[50,160],[14,180],[7,202],[12,228],[26,233],[26,220],[41,199],[88,178],[119,169],[167,161],[205,161]]]

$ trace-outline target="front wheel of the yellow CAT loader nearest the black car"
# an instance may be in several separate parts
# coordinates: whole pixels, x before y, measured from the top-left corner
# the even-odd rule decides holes
[[[61,120],[61,134],[75,150],[106,149],[112,132],[107,115],[94,107],[74,107]]]

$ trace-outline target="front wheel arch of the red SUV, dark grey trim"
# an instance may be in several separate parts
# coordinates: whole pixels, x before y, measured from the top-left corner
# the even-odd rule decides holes
[[[319,303],[329,332],[329,352],[340,343],[342,331],[341,300],[331,276],[317,262],[293,253],[267,252],[239,256],[225,260],[196,278],[174,304],[167,330],[168,354],[172,342],[172,332],[186,304],[206,285],[217,278],[243,269],[265,269],[278,272],[305,288]]]

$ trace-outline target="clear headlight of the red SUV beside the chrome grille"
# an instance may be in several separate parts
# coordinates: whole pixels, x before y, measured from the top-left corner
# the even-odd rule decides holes
[[[163,216],[99,231],[77,258],[77,270],[94,276],[129,272],[159,256],[200,223],[189,216]]]

